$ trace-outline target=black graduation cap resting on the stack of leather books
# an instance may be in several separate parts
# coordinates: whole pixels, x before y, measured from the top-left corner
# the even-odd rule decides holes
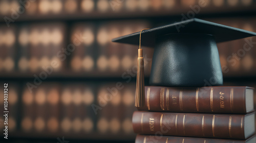
[[[141,45],[154,47],[150,85],[218,86],[223,84],[216,43],[256,33],[193,18],[141,32]],[[139,45],[140,32],[113,39]]]

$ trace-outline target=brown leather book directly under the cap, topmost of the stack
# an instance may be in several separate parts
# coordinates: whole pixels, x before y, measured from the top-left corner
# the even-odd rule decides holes
[[[254,109],[253,88],[246,86],[145,86],[145,102],[146,106],[138,110],[245,114]]]

